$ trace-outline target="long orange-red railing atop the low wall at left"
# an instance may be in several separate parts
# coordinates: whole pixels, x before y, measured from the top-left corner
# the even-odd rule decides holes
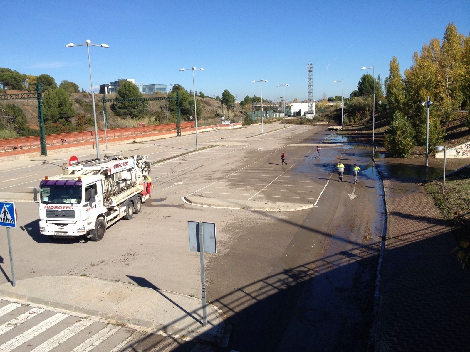
[[[194,122],[181,122],[181,129],[194,128]],[[176,123],[167,123],[163,125],[127,127],[112,130],[106,130],[108,139],[141,136],[157,132],[176,131]],[[95,140],[94,131],[70,132],[46,135],[46,145],[64,145],[77,142],[93,142]],[[104,130],[98,131],[98,139],[104,139]],[[39,136],[19,137],[0,139],[0,151],[31,149],[40,147]]]

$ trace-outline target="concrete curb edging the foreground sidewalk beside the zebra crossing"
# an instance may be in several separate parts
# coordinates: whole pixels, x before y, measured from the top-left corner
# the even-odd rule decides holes
[[[95,279],[100,279],[100,278],[95,278]],[[100,280],[105,280],[105,279],[100,279]],[[108,280],[105,280],[108,281]],[[121,283],[121,284],[126,284],[126,283]],[[126,284],[127,285],[127,284]],[[167,292],[164,290],[158,290],[158,291],[163,291]],[[168,291],[170,292],[170,291]],[[178,294],[181,296],[184,296],[188,298],[188,296],[182,295],[177,292],[171,292],[173,294]],[[32,297],[32,296],[26,296],[21,293],[16,293],[12,291],[5,291],[5,290],[0,290],[0,296],[1,297],[6,297],[6,298],[11,298],[11,299],[17,299],[19,301],[23,302],[29,302],[29,303],[34,303],[42,306],[48,306],[52,308],[57,308],[57,309],[62,309],[65,311],[73,312],[73,313],[78,313],[78,314],[85,314],[89,316],[93,316],[96,318],[101,318],[101,319],[106,319],[106,320],[111,320],[111,321],[117,321],[120,323],[125,323],[125,324],[132,324],[136,325],[142,328],[147,328],[147,329],[153,329],[153,330],[158,330],[162,331],[164,333],[168,333],[171,335],[179,335],[181,337],[190,337],[195,340],[203,340],[203,341],[208,341],[208,342],[213,342],[216,344],[219,344],[222,341],[222,337],[224,336],[224,330],[225,330],[225,323],[222,318],[222,310],[219,309],[217,306],[214,306],[212,304],[207,304],[206,307],[211,309],[216,313],[216,316],[219,318],[219,326],[217,327],[217,332],[215,336],[211,336],[211,334],[207,334],[209,331],[199,333],[197,331],[189,331],[189,330],[183,330],[183,329],[178,329],[175,328],[171,325],[163,325],[161,323],[155,323],[152,321],[145,321],[141,319],[135,319],[131,317],[127,317],[124,315],[115,315],[115,314],[110,314],[110,313],[105,313],[105,312],[100,312],[94,309],[87,309],[79,306],[73,306],[69,304],[64,304],[64,303],[59,303],[59,302],[54,302],[54,301],[49,301],[47,299],[42,299],[42,298],[37,298],[37,297]],[[196,300],[200,300],[198,298],[194,298]],[[209,335],[209,336],[207,336]]]

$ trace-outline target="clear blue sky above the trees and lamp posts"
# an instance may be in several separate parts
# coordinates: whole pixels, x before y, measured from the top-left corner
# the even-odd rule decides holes
[[[307,64],[313,63],[313,99],[356,89],[363,66],[388,75],[398,58],[402,72],[431,38],[454,22],[469,35],[469,1],[7,1],[1,5],[0,67],[75,82],[134,78],[143,84],[181,84],[238,100],[307,98]],[[372,70],[368,71],[372,74]]]

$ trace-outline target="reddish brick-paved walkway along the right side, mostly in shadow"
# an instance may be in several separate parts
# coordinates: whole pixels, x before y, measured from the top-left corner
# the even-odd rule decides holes
[[[424,186],[381,174],[389,223],[375,351],[469,351],[470,276],[450,253],[451,229]]]

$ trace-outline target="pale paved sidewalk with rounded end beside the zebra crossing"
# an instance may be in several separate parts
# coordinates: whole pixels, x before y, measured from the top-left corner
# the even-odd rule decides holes
[[[142,278],[133,278],[151,286]],[[86,276],[40,276],[0,285],[0,296],[51,306],[71,312],[164,331],[199,340],[220,342],[224,322],[220,310],[175,292]]]

